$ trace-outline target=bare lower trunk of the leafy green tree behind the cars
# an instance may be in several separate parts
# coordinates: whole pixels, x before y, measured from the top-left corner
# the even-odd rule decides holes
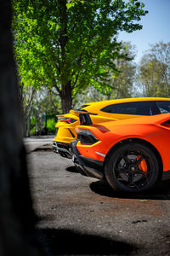
[[[72,107],[71,82],[69,82],[66,85],[62,85],[60,98],[61,98],[61,107],[62,107],[63,113],[69,113]]]

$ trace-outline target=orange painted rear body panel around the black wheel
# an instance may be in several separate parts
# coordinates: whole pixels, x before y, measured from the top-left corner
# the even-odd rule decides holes
[[[80,125],[80,129],[92,131],[94,136],[99,139],[93,145],[81,144],[77,142],[77,149],[81,155],[94,160],[105,160],[117,143],[127,139],[139,139],[150,143],[161,155],[163,171],[170,170],[169,145],[170,145],[170,126],[161,124],[170,119],[170,113],[160,114],[151,117],[137,119],[127,119],[116,122],[103,123],[100,125]]]

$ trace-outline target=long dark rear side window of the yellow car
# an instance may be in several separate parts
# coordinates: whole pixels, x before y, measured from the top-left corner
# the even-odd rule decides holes
[[[135,115],[152,115],[151,102],[127,102],[112,104],[101,111],[106,113],[122,113],[122,114],[135,114]]]

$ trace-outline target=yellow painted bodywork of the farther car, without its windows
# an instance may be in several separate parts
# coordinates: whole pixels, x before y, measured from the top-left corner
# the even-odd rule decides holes
[[[116,104],[125,104],[128,102],[170,102],[168,98],[161,97],[149,97],[149,98],[128,98],[128,99],[116,99],[110,101],[103,102],[90,102],[85,107],[82,107],[82,111],[86,111],[90,113],[90,118],[92,119],[93,124],[101,124],[104,122],[112,122],[113,120],[123,120],[123,119],[133,119],[137,117],[141,117],[143,115],[137,114],[125,114],[125,113],[107,113],[101,111],[101,109]],[[56,136],[54,137],[54,142],[57,143],[67,143],[68,145],[77,138],[76,127],[80,125],[80,121],[77,115],[77,112],[71,110],[70,113],[66,113],[63,115],[58,115],[58,118],[65,119],[74,119],[73,123],[67,123],[63,120],[59,120],[55,125],[57,129]],[[127,123],[126,123],[127,125]],[[108,126],[108,125],[107,125]],[[137,127],[136,127],[137,129]],[[138,135],[138,132],[137,132]]]

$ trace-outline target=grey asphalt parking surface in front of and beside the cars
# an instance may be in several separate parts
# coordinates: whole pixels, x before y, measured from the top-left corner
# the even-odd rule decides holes
[[[170,181],[142,195],[119,195],[26,140],[37,232],[48,255],[170,255]]]

